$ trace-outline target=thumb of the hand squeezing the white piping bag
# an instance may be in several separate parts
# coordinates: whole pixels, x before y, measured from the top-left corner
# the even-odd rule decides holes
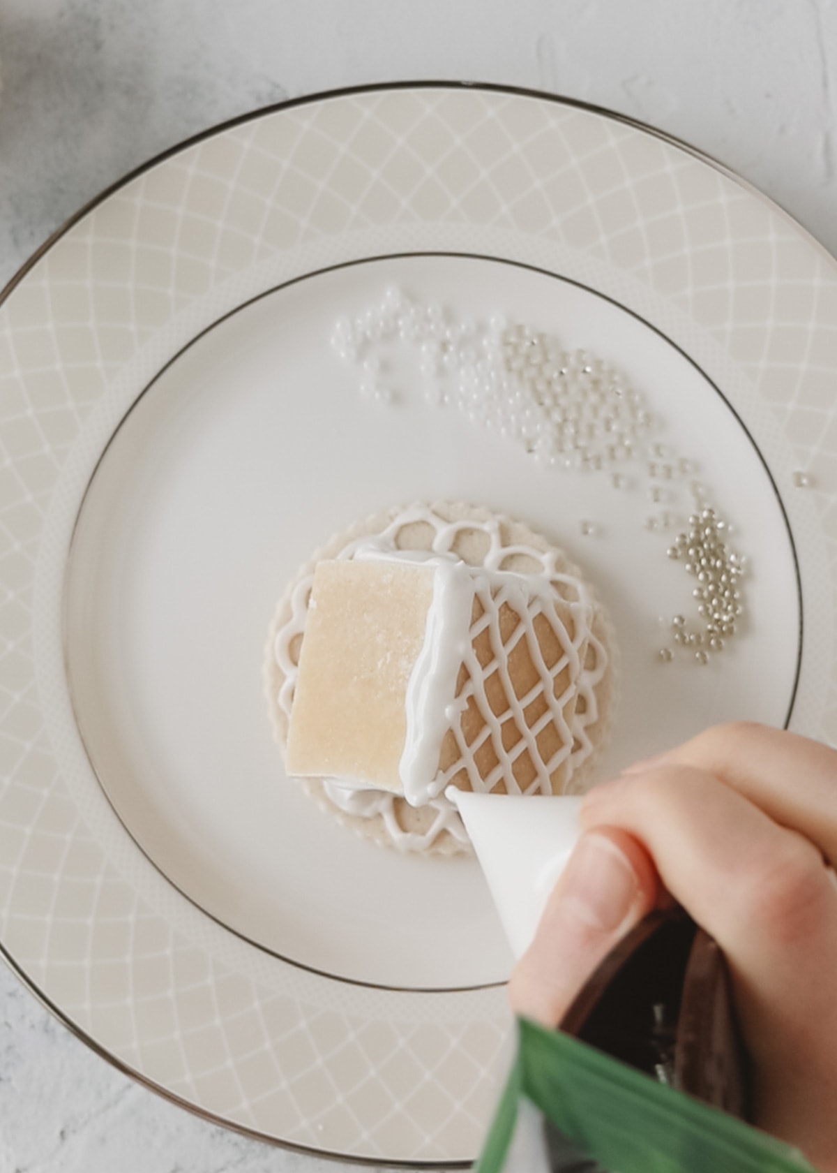
[[[581,835],[509,982],[515,1013],[556,1026],[613,945],[656,902],[648,853],[626,832]]]

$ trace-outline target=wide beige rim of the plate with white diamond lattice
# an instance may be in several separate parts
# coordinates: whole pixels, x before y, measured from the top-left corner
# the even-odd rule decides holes
[[[720,170],[598,114],[429,88],[257,116],[93,208],[0,307],[4,942],[82,1030],[203,1110],[298,1144],[404,1160],[472,1155],[505,1030],[502,992],[465,997],[442,1025],[438,1002],[407,999],[382,1025],[313,978],[306,995],[279,963],[261,981],[251,971],[261,962],[219,960],[210,929],[196,942],[173,928],[177,915],[108,862],[56,764],[52,700],[35,683],[33,590],[82,427],[131,362],[189,340],[196,301],[229,312],[236,282],[274,263],[279,272],[294,249],[328,263],[355,236],[368,248],[375,232],[397,232],[402,251],[429,250],[451,229],[475,251],[481,233],[505,232],[518,259],[538,248],[586,258],[610,273],[603,292],[652,323],[660,306],[688,316],[758,388],[815,477],[833,583],[833,263]],[[831,583],[817,590],[833,611]],[[833,682],[825,708],[818,732],[831,737]]]

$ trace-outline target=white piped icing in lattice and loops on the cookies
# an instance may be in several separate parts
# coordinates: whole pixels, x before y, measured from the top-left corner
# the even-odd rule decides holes
[[[407,527],[416,524],[431,527],[430,548],[428,550],[401,549],[399,535]],[[488,549],[481,567],[465,565],[455,552],[460,535],[472,531],[478,531],[488,540]],[[526,574],[525,583],[522,581],[522,575],[506,569],[515,556],[523,556],[539,565],[539,570],[536,570],[535,574]],[[477,792],[490,791],[501,779],[504,779],[509,793],[539,792],[550,794],[552,793],[550,774],[563,761],[566,761],[567,779],[571,779],[572,773],[592,752],[592,744],[586,731],[599,718],[596,687],[605,674],[607,653],[591,630],[593,606],[585,584],[558,569],[554,551],[538,550],[536,547],[526,544],[504,545],[497,518],[475,521],[468,517],[448,522],[427,506],[414,506],[399,513],[382,533],[365,535],[349,542],[338,557],[394,558],[435,564],[442,572],[436,576],[437,583],[434,585],[431,612],[434,606],[436,606],[436,612],[429,616],[426,649],[435,644],[443,646],[445,652],[443,663],[438,664],[434,663],[431,658],[422,662],[422,657],[420,657],[408,689],[408,731],[410,721],[414,723],[413,727],[415,728],[420,717],[423,719],[424,713],[435,712],[437,714],[435,723],[428,728],[427,737],[418,739],[416,752],[411,757],[406,753],[407,760],[402,759],[406,798],[411,805],[423,806],[433,812],[434,819],[429,828],[421,834],[404,830],[396,815],[397,795],[390,793],[356,789],[340,785],[335,779],[326,779],[324,782],[325,792],[331,802],[346,814],[356,818],[370,819],[380,815],[393,843],[401,850],[414,852],[430,846],[444,830],[458,842],[468,841],[458,814],[442,793],[451,778],[463,766],[468,773],[469,785]],[[288,718],[297,678],[297,663],[292,655],[292,647],[295,646],[298,637],[305,631],[312,578],[313,575],[308,575],[297,583],[290,601],[291,616],[278,632],[274,644],[274,656],[284,677],[278,701]],[[467,584],[464,579],[467,579]],[[574,628],[572,638],[563,624],[556,622],[556,588],[572,610]],[[463,622],[463,615],[465,605],[470,605],[470,599],[474,596],[479,599],[483,613],[477,624],[470,626],[469,630],[469,624]],[[538,670],[538,683],[522,698],[515,696],[508,671],[510,649],[503,647],[499,633],[498,617],[504,602],[509,603],[519,616],[522,622],[515,636],[518,637],[518,631],[520,631],[519,638],[526,639],[532,662]],[[545,664],[540,653],[533,625],[538,615],[543,615],[550,622],[562,645],[562,656],[552,666]],[[431,624],[441,624],[441,630],[444,632],[443,639],[435,639],[434,632],[430,631]],[[490,629],[495,658],[489,665],[482,667],[474,653],[472,639],[484,628]],[[581,664],[579,650],[585,645],[587,652],[585,663]],[[469,670],[468,683],[454,705],[445,704],[447,698],[454,696],[455,689],[450,686],[450,680],[451,678],[456,679],[462,663]],[[570,678],[573,680],[571,686],[578,691],[580,701],[570,725],[566,724],[563,712],[566,696],[554,697],[554,689],[549,684],[566,666],[570,667]],[[484,694],[484,679],[495,670],[499,671],[503,678],[509,704],[509,712],[499,716],[491,711]],[[544,716],[529,730],[523,719],[523,711],[540,692],[547,700],[547,708]],[[461,707],[468,704],[470,696],[474,696],[485,718],[485,725],[478,739],[468,746],[455,718]],[[506,752],[502,744],[501,726],[510,714],[515,717],[516,725],[523,735],[517,745]],[[535,738],[547,721],[554,721],[559,730],[562,748],[557,751],[551,761],[542,764]],[[445,772],[437,772],[438,746],[447,728],[451,728],[457,739],[460,759]],[[483,779],[474,761],[474,754],[488,738],[492,739],[495,751],[499,750],[497,753],[498,762],[491,773]],[[408,744],[409,741],[408,737]],[[536,778],[524,791],[520,791],[515,781],[511,766],[516,755],[525,750],[529,750],[530,759],[536,765]],[[430,768],[428,768],[428,762],[431,764]],[[567,785],[566,789],[571,789],[571,785]]]

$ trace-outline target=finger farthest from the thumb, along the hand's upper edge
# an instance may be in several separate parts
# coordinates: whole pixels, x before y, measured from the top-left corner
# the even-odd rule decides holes
[[[690,766],[714,774],[837,863],[837,751],[830,746],[787,730],[735,721],[715,725],[625,773],[651,765]],[[596,788],[591,793],[594,800]]]

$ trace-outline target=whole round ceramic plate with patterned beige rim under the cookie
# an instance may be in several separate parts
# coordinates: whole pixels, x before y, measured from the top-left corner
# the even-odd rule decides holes
[[[392,285],[554,333],[642,392],[654,440],[699,469],[750,560],[721,656],[656,659],[693,583],[644,526],[645,463],[619,490],[545,469],[428,405],[408,347],[395,405],[359,394],[332,327]],[[509,1028],[495,914],[472,862],[375,849],[287,784],[260,693],[275,599],[355,518],[470,500],[564,544],[608,604],[625,687],[601,774],[730,718],[830,740],[835,323],[837,266],[768,201],[540,95],[291,103],[83,212],[0,306],[0,903],[18,971],[223,1123],[369,1160],[471,1159]],[[673,518],[687,482],[662,486]]]

